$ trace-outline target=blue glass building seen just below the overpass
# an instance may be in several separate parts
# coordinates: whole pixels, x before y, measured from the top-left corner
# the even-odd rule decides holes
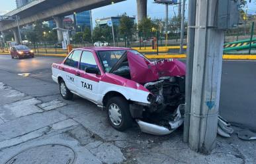
[[[83,31],[86,27],[92,29],[91,11],[83,11],[73,14],[74,26],[77,32]]]

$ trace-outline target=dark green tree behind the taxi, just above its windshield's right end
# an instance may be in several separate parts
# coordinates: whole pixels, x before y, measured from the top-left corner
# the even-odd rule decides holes
[[[134,28],[134,21],[126,15],[126,13],[122,14],[120,18],[119,30],[120,34],[127,36],[130,38],[132,36]]]

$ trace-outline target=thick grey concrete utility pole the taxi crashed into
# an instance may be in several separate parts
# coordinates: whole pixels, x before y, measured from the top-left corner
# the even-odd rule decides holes
[[[218,0],[197,0],[195,24],[189,27],[194,28],[189,146],[202,153],[215,148],[218,126],[224,30],[216,26],[216,7]]]

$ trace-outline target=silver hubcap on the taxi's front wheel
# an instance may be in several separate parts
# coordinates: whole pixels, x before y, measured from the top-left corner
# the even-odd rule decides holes
[[[121,124],[122,122],[122,114],[120,111],[120,108],[118,107],[118,105],[112,103],[111,105],[109,105],[108,107],[108,116],[110,118],[110,121],[118,126]]]

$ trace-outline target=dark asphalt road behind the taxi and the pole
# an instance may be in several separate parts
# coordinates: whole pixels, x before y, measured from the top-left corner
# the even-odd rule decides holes
[[[40,96],[59,94],[58,86],[52,82],[50,67],[60,62],[62,57],[35,57],[34,59],[11,59],[9,55],[0,55],[0,71],[7,71],[13,76],[30,73],[31,78],[48,83],[48,89],[38,88],[35,84],[21,85],[22,80],[8,80],[0,77],[0,82],[22,92]],[[220,93],[220,115],[233,124],[256,131],[256,61],[223,61],[222,84]],[[11,75],[9,75],[11,76]],[[79,103],[79,102],[78,102]]]

